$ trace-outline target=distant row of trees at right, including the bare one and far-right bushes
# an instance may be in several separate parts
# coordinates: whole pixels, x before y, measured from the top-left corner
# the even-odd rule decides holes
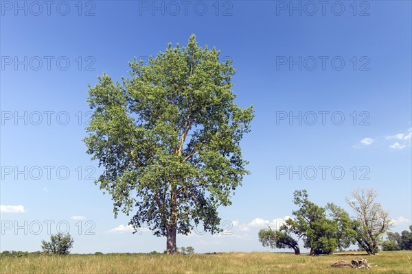
[[[389,232],[389,240],[382,242],[382,235],[388,232],[393,221],[375,199],[376,190],[354,190],[352,199],[346,199],[356,215],[352,219],[334,203],[317,206],[309,200],[306,190],[296,190],[293,203],[299,208],[292,212],[294,218],[286,220],[279,229],[261,229],[259,240],[264,247],[290,248],[297,255],[300,254],[299,240],[302,240],[312,256],[329,255],[356,243],[359,249],[370,255],[379,251],[379,245],[384,249],[389,246],[410,247],[405,243],[411,241],[410,232],[402,232],[404,241],[400,234]]]

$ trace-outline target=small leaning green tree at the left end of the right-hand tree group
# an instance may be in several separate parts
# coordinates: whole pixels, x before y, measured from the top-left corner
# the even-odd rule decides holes
[[[300,254],[297,240],[290,236],[284,229],[282,231],[273,230],[271,227],[268,227],[267,229],[260,229],[259,241],[262,242],[264,247],[279,249],[290,248],[295,251],[296,255]]]

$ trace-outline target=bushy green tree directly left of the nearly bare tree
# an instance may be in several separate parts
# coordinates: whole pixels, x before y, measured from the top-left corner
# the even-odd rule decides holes
[[[332,254],[354,242],[352,221],[339,206],[328,203],[321,208],[309,201],[306,190],[296,190],[293,202],[299,206],[293,211],[295,219],[286,220],[282,228],[302,239],[311,255]]]

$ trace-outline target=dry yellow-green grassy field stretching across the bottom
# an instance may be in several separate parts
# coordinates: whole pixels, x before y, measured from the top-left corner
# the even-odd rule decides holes
[[[336,269],[339,260],[365,258],[372,269]],[[311,257],[291,253],[174,255],[107,254],[0,259],[1,273],[412,273],[412,251],[361,252]]]

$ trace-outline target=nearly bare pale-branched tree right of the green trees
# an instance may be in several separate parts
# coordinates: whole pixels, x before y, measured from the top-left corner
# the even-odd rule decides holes
[[[378,252],[382,234],[385,234],[393,223],[389,219],[389,213],[383,210],[380,203],[375,202],[376,196],[374,189],[358,188],[352,191],[354,199],[346,198],[347,203],[356,213],[354,222],[356,241],[369,255]]]

